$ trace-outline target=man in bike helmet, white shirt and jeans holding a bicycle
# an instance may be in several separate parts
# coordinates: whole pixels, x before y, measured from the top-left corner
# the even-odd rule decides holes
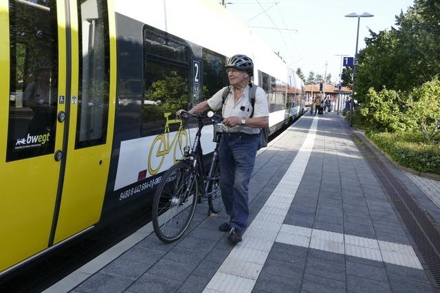
[[[236,243],[241,242],[249,218],[248,185],[259,145],[259,128],[269,127],[269,106],[265,92],[258,87],[252,108],[249,91],[253,86],[250,78],[254,73],[254,63],[251,58],[234,55],[225,67],[230,86],[197,104],[189,112],[198,114],[222,109],[223,124],[228,131],[223,132],[219,148],[220,189],[230,220],[221,224],[219,230],[229,231],[229,239]],[[226,88],[228,95],[223,104]]]

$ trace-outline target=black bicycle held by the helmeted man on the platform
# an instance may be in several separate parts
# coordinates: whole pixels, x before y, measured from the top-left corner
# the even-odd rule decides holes
[[[184,147],[184,157],[170,167],[155,191],[153,200],[153,227],[157,237],[162,242],[171,243],[184,235],[197,203],[208,200],[208,214],[215,215],[223,209],[220,192],[219,144],[221,132],[215,131],[220,126],[223,117],[214,115],[192,115],[182,111],[181,118],[187,121],[196,118],[198,123],[192,148]],[[201,149],[201,129],[203,119],[210,118],[214,122],[214,141],[216,142],[212,159],[206,172]],[[203,187],[203,188],[202,188]]]

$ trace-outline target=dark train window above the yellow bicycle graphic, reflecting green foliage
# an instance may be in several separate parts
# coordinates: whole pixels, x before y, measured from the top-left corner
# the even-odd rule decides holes
[[[183,40],[144,29],[144,101],[142,135],[163,129],[166,113],[173,117],[188,105],[188,45]],[[179,125],[170,125],[173,130]]]

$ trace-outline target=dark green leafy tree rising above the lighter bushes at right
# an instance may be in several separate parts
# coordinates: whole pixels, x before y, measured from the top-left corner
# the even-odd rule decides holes
[[[432,80],[440,68],[440,3],[415,0],[396,16],[397,29],[370,31],[360,51],[355,91],[362,98],[375,91],[411,91]]]

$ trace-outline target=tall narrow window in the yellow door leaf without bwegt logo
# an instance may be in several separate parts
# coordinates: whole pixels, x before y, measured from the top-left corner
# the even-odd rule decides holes
[[[105,143],[109,117],[107,1],[78,1],[79,89],[75,148]]]

